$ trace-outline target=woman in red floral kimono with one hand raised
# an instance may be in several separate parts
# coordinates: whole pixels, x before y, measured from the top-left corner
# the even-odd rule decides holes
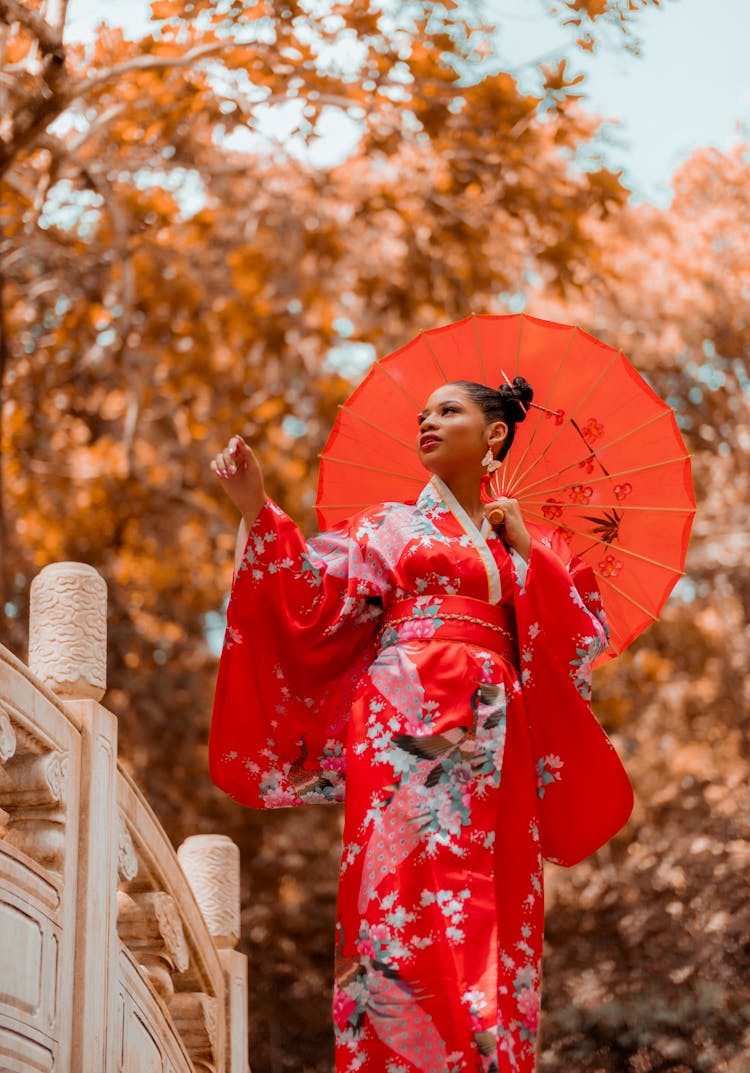
[[[591,570],[515,500],[482,500],[532,394],[521,378],[439,387],[418,414],[432,477],[416,502],[307,544],[241,439],[211,464],[242,514],[211,775],[276,807],[344,799],[345,769],[337,1073],[533,1069],[540,818],[579,760],[575,741],[545,751],[540,726],[592,718],[607,642]],[[630,810],[613,793],[595,844]]]

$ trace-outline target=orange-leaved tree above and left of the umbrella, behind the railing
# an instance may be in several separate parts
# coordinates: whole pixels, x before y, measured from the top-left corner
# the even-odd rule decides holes
[[[574,33],[627,15],[563,6]],[[452,2],[401,5],[396,23],[366,0],[157,0],[141,41],[102,27],[89,46],[64,40],[65,10],[0,0],[6,636],[20,649],[44,563],[105,576],[124,755],[176,840],[221,826],[242,848],[254,1064],[286,981],[307,1012],[275,1060],[325,1068],[329,935],[309,916],[333,909],[337,818],[251,817],[206,778],[234,523],[208,459],[241,429],[309,524],[350,388],[332,353],[383,352],[469,303],[502,310],[530,277],[570,298],[627,191],[593,156],[569,162],[595,149],[579,77],[550,65],[521,93],[492,67],[489,28]],[[281,104],[310,143],[324,109],[350,115],[356,150],[320,171],[251,141],[261,106]]]

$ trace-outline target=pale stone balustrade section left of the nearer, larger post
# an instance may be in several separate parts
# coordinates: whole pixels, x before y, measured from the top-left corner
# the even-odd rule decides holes
[[[2,1070],[70,1068],[79,785],[74,721],[0,647]]]

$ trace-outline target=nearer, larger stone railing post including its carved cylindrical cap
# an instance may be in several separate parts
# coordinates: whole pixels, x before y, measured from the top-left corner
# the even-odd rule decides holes
[[[56,562],[31,583],[29,668],[65,705],[80,733],[80,811],[73,988],[73,1070],[114,1069],[117,1011],[117,721],[106,689],[104,578]]]

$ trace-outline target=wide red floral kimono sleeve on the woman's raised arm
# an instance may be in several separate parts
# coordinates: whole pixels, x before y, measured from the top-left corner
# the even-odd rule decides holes
[[[306,543],[268,501],[248,535],[209,737],[211,778],[244,805],[343,798],[349,708],[389,586],[361,521]]]

